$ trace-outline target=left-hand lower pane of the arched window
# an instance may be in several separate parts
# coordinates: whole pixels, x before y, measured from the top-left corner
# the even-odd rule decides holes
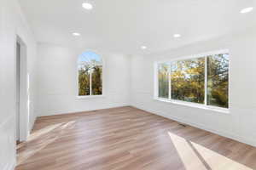
[[[90,95],[90,73],[88,65],[79,65],[79,96]]]

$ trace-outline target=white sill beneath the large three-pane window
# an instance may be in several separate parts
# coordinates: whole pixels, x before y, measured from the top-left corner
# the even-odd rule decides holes
[[[194,104],[194,103],[189,103],[189,102],[179,101],[179,100],[173,100],[173,99],[172,100],[171,99],[163,99],[163,98],[154,98],[154,99],[157,100],[157,101],[161,101],[161,102],[171,103],[173,105],[184,105],[184,106],[189,106],[189,107],[193,107],[193,108],[204,109],[204,110],[207,110],[207,111],[217,111],[217,112],[220,112],[220,113],[230,114],[229,109],[215,107],[215,106]]]

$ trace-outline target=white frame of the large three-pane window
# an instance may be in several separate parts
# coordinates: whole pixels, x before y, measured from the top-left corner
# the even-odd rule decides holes
[[[208,89],[207,89],[208,88],[208,86],[207,86],[207,83],[208,83],[207,57],[210,55],[216,55],[216,54],[229,54],[229,79],[228,79],[228,81],[229,81],[229,93],[228,93],[229,108],[207,105],[207,93],[208,93]],[[186,59],[196,59],[196,58],[204,58],[205,59],[205,99],[204,99],[204,104],[198,104],[198,103],[193,103],[193,102],[188,102],[188,101],[183,101],[183,100],[172,99],[171,63],[174,61],[186,60]],[[170,67],[168,68],[168,70],[169,70],[169,77],[168,77],[168,79],[169,79],[169,97],[168,97],[168,99],[159,97],[158,65],[163,64],[163,63],[168,63],[168,65],[170,65]],[[168,59],[168,60],[161,60],[161,61],[154,62],[154,99],[156,99],[158,101],[162,101],[162,102],[171,103],[174,105],[184,105],[184,106],[200,108],[200,109],[205,109],[205,110],[210,110],[210,111],[230,113],[230,50],[222,49],[222,50],[216,50],[216,51],[211,51],[211,52],[202,53],[202,54],[195,54],[195,55],[189,55],[189,56],[179,57],[179,58],[175,58],[175,59]]]

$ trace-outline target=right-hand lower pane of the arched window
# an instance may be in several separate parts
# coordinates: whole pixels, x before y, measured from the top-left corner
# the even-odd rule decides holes
[[[102,95],[102,66],[96,65],[91,73],[92,95]]]

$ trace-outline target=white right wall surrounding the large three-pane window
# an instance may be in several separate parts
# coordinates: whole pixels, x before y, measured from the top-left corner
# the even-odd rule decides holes
[[[131,59],[131,105],[256,146],[256,29]],[[153,99],[154,61],[230,49],[230,114]]]

